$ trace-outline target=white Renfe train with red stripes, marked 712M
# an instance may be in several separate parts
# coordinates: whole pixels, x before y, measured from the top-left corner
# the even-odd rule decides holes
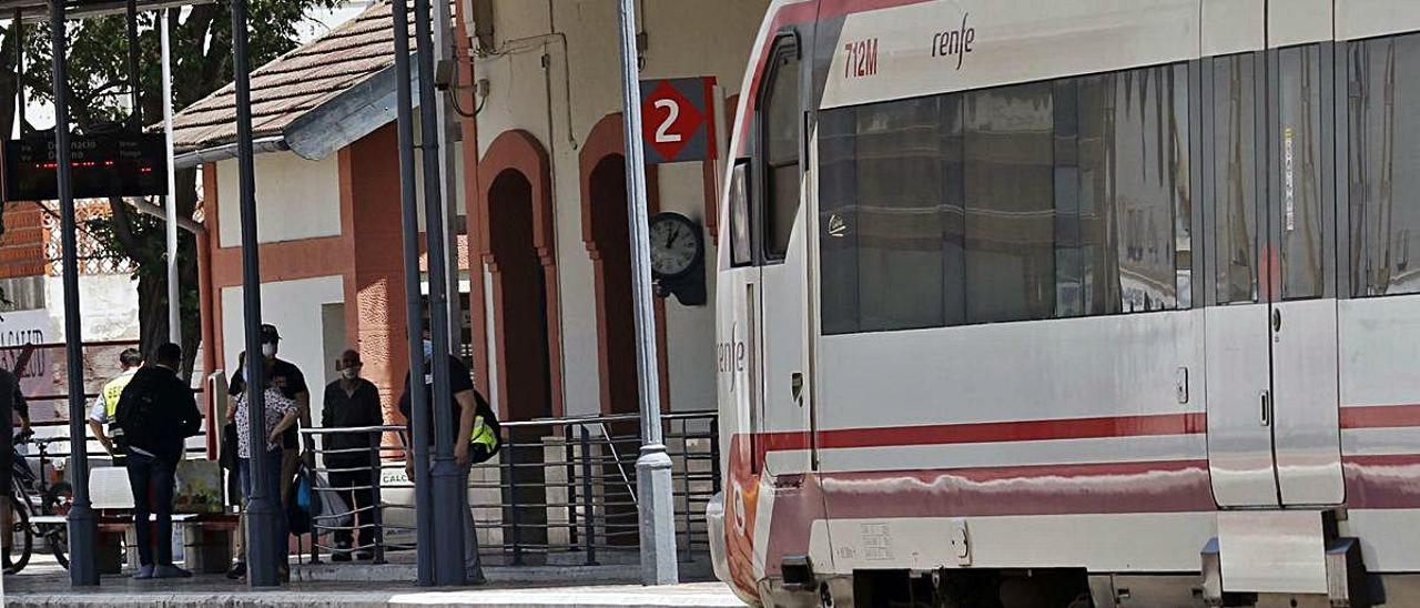
[[[737,116],[744,601],[1420,607],[1420,1],[777,0]]]

